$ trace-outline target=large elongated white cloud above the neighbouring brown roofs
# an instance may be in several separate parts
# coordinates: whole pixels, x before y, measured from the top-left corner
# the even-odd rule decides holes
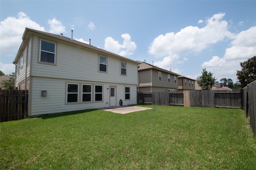
[[[150,44],[148,53],[158,58],[164,57],[164,60],[160,62],[162,68],[166,68],[168,64],[182,63],[178,61],[178,55],[200,53],[210,44],[233,37],[233,34],[228,31],[228,22],[222,20],[224,16],[225,13],[215,14],[206,20],[206,25],[202,28],[188,26],[176,34],[171,32],[159,35]],[[170,59],[166,60],[166,56]]]

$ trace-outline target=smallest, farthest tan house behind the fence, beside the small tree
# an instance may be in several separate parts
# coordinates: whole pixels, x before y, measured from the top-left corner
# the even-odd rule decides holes
[[[178,91],[195,90],[195,80],[185,76],[178,76]]]

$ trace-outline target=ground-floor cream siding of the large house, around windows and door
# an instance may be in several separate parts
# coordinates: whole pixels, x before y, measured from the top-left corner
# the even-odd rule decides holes
[[[78,96],[82,96],[82,84],[103,85],[102,102],[80,102],[66,103],[66,84],[79,84]],[[82,109],[109,107],[110,86],[116,86],[116,104],[119,106],[119,100],[122,99],[123,105],[137,104],[136,85],[118,84],[118,83],[99,83],[93,81],[68,80],[60,78],[32,77],[32,86],[30,87],[29,116],[49,113],[60,113],[65,111],[75,111]],[[124,87],[130,87],[130,100],[124,100]],[[41,90],[47,90],[47,96],[41,96]],[[94,92],[92,92],[94,95]],[[81,101],[81,100],[80,100]]]

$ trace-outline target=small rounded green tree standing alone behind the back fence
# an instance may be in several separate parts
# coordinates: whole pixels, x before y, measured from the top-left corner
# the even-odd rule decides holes
[[[202,88],[202,90],[211,90],[212,86],[215,84],[216,78],[212,76],[211,72],[207,72],[206,68],[203,69],[202,76],[197,78],[198,86]]]

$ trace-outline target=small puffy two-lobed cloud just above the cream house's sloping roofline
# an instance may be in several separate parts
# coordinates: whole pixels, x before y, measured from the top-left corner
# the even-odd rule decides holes
[[[132,55],[136,49],[135,42],[131,41],[128,33],[122,34],[121,36],[124,39],[123,44],[119,44],[112,37],[107,37],[105,39],[104,49],[121,56]]]

